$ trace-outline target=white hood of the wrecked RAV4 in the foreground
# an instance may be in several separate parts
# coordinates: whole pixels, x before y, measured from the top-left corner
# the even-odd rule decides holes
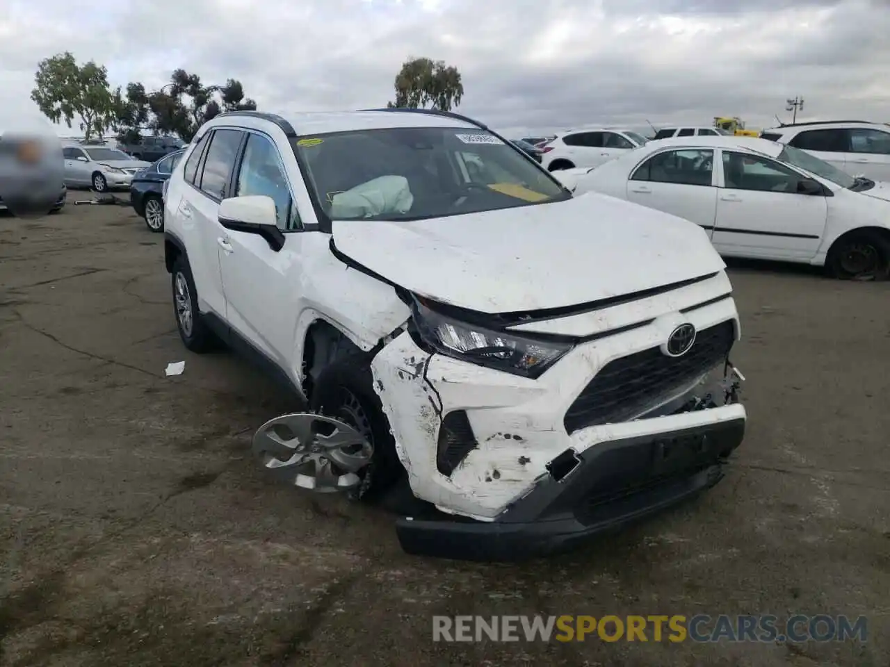
[[[333,237],[392,283],[485,313],[598,301],[725,266],[698,225],[596,193],[421,221],[334,221]]]

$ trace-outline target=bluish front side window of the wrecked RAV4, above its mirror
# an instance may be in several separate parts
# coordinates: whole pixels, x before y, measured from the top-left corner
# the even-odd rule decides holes
[[[213,150],[213,144],[210,149]],[[275,202],[279,229],[299,229],[299,216],[281,168],[278,149],[259,134],[247,135],[247,147],[235,185],[236,197],[265,195]]]

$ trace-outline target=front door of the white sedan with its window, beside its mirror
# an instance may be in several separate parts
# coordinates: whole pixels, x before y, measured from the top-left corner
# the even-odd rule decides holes
[[[819,249],[828,218],[823,195],[801,195],[804,177],[768,157],[723,150],[711,242],[730,256],[805,261]]]

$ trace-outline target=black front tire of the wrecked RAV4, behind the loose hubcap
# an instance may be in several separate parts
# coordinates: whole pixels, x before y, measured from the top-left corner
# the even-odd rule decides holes
[[[312,390],[310,409],[350,424],[374,447],[371,462],[360,470],[352,501],[375,502],[405,474],[395,452],[389,420],[374,390],[368,355],[355,350],[323,368]]]

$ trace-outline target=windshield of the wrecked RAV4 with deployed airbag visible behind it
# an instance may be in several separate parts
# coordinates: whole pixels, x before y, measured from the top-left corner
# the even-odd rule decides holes
[[[518,149],[474,128],[328,133],[293,145],[331,220],[422,220],[571,197]]]

